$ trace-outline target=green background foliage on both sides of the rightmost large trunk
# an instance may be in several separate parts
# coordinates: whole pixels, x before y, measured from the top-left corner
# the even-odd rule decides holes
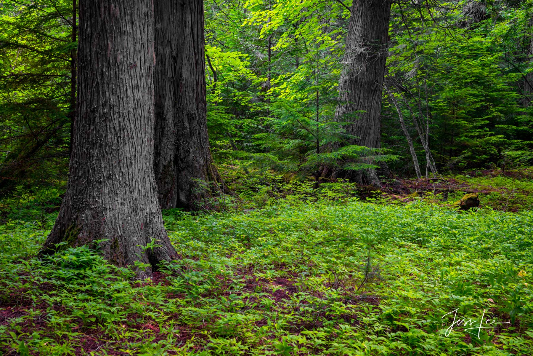
[[[400,107],[419,161],[423,166],[425,154],[414,117],[424,126],[427,121],[429,146],[441,171],[490,162],[528,164],[533,121],[522,91],[524,77],[533,70],[527,54],[531,2],[485,6],[486,20],[479,23],[463,12],[466,5],[466,0],[393,5],[387,72],[398,86],[394,91],[402,93]],[[247,101],[223,98],[210,106],[216,124],[229,115],[222,121],[232,138],[223,133],[227,138],[213,146],[226,156],[235,149],[247,151],[260,165],[313,176],[327,160],[311,153],[329,152],[330,143],[346,139],[332,117],[349,11],[335,1],[251,0],[244,4],[246,11],[240,6],[207,6],[208,43],[229,56],[247,53],[247,69],[255,74],[228,87]],[[221,73],[240,73],[239,66],[234,68]],[[398,115],[386,97],[383,102],[383,147],[400,157],[391,168],[409,172]]]

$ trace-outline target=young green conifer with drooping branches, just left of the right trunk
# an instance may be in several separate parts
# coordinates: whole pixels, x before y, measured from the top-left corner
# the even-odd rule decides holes
[[[301,179],[320,175],[320,167],[340,166],[343,169],[377,167],[360,163],[386,161],[390,156],[379,156],[378,149],[344,146],[352,136],[346,134],[342,122],[334,120],[337,105],[336,74],[330,72],[335,62],[329,48],[316,44],[303,58],[295,73],[279,76],[273,82],[270,117],[263,118],[265,132],[254,135],[255,145],[269,153],[253,156],[260,165],[281,172],[298,173]],[[334,144],[342,148],[332,149]]]

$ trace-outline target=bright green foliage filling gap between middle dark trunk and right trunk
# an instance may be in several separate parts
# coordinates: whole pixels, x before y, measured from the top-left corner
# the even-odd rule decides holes
[[[219,4],[215,5],[220,8]],[[251,113],[256,115],[256,126],[251,125],[254,122],[252,118],[246,121],[232,120],[234,130],[226,127],[232,136],[240,137],[241,141],[249,141],[252,148],[247,151],[253,153],[249,159],[261,167],[281,172],[296,172],[300,179],[316,177],[320,167],[325,164],[331,167],[339,165],[344,169],[363,169],[375,166],[360,163],[361,157],[365,157],[367,161],[372,158],[374,162],[392,159],[393,156],[374,157],[381,151],[357,146],[332,152],[333,144],[339,143],[343,146],[352,138],[344,133],[342,123],[334,120],[335,107],[338,104],[337,86],[341,73],[339,59],[342,57],[344,29],[342,26],[331,26],[329,22],[334,18],[344,21],[346,13],[342,5],[314,1],[249,1],[245,6],[250,11],[249,15],[243,17],[243,14],[239,14],[241,25],[239,29],[231,31],[231,35],[228,31],[220,31],[215,27],[216,23],[220,23],[217,20],[213,23],[208,21],[208,32],[211,34],[213,30],[213,37],[210,35],[209,40],[221,44],[235,36],[243,38],[248,33],[243,28],[250,31],[257,29],[259,34],[255,41],[263,41],[266,45],[266,48],[256,45],[256,50],[252,51],[253,56],[259,56],[257,59],[261,59],[266,65],[266,72],[263,70],[266,77],[255,78],[248,74],[251,72],[244,71],[247,73],[245,83],[254,78],[248,87],[248,95],[243,92],[238,94],[242,94],[248,103],[233,98],[228,100],[239,102],[240,108],[248,106]],[[228,10],[232,10],[232,7]],[[228,16],[228,13],[231,12],[224,11],[223,15]],[[209,51],[208,48],[207,52]],[[263,51],[265,57],[260,56],[257,51]],[[229,51],[220,53],[232,56]],[[287,56],[290,58],[288,61],[284,60]],[[221,69],[220,73],[231,77],[241,73],[239,68],[239,65],[233,65],[231,68]],[[211,81],[209,73],[208,79]],[[260,92],[256,91],[257,80],[263,81]],[[240,85],[242,84],[243,81]],[[222,90],[224,89],[221,88],[220,91]],[[233,92],[237,93],[235,89]],[[220,96],[219,98],[217,100],[220,100],[221,104],[228,102]],[[209,107],[210,126],[222,121],[230,123],[229,117],[224,117],[221,109],[218,105]],[[225,109],[227,113],[229,108]],[[233,112],[235,111],[236,109],[233,109]],[[346,118],[346,121],[348,119]],[[353,120],[353,117],[351,119]],[[254,135],[246,137],[249,133]]]

